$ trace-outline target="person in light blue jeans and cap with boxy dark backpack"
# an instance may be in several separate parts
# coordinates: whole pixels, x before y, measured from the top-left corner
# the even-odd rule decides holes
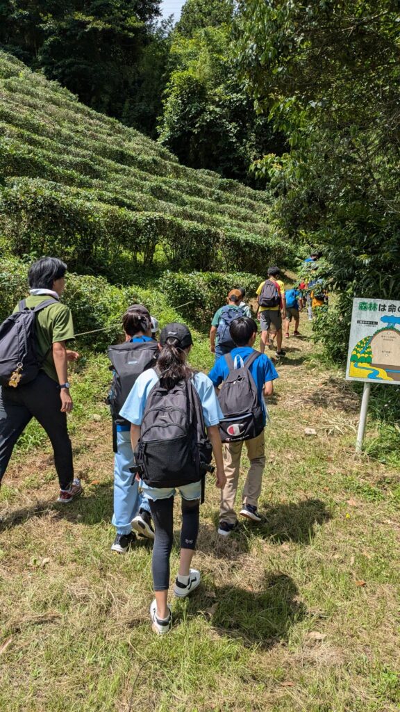
[[[125,342],[110,346],[108,356],[114,371],[108,402],[112,415],[114,458],[114,514],[112,524],[117,529],[112,551],[125,554],[138,534],[154,539],[154,529],[147,499],[139,493],[139,482],[130,468],[135,464],[130,441],[130,422],[120,416],[137,378],[156,365],[159,355],[152,328],[154,317],[142,304],[133,304],[122,317]]]

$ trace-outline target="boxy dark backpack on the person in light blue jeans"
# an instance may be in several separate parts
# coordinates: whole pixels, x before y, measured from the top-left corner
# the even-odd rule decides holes
[[[122,406],[130,394],[138,376],[149,368],[154,368],[159,355],[157,341],[126,341],[110,346],[108,357],[114,371],[107,403],[110,405],[112,419],[117,425],[127,425],[120,416]]]

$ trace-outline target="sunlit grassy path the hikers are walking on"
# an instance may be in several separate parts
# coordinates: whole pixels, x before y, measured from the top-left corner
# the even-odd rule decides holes
[[[0,494],[1,711],[399,710],[398,473],[354,457],[358,398],[307,338],[287,343],[266,436],[266,523],[221,541],[209,483],[203,585],[174,603],[167,639],[149,628],[151,550],[110,552],[105,359],[74,379],[80,502],[52,503],[48,446],[28,431]]]

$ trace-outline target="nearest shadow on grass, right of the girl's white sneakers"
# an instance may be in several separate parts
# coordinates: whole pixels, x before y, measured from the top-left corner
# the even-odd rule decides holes
[[[244,579],[246,577],[243,577]],[[241,639],[246,647],[264,650],[288,640],[290,629],[307,615],[298,599],[298,587],[283,573],[265,573],[259,590],[221,586],[215,590],[211,606],[199,610],[199,595],[187,602],[189,614],[203,613],[220,635]],[[177,612],[178,620],[180,618]]]

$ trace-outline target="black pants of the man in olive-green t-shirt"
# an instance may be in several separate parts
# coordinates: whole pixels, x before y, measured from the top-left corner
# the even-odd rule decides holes
[[[16,441],[36,418],[51,440],[60,488],[68,489],[73,481],[73,456],[67,416],[60,408],[58,384],[44,371],[25,386],[0,389],[0,481]]]

